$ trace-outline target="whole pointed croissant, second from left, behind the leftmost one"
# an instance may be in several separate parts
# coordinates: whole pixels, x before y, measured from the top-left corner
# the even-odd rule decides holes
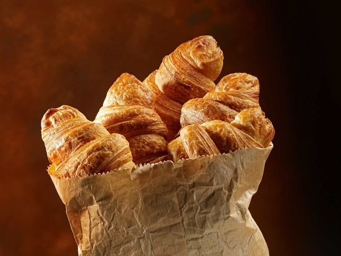
[[[153,106],[152,92],[135,76],[123,73],[110,87],[94,122],[129,142],[135,164],[167,154],[167,128]]]

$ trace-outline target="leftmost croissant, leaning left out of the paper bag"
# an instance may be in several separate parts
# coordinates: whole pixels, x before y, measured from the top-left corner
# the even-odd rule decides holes
[[[109,134],[77,109],[63,105],[49,109],[41,121],[49,173],[58,178],[86,176],[118,168],[134,168],[128,141]]]

